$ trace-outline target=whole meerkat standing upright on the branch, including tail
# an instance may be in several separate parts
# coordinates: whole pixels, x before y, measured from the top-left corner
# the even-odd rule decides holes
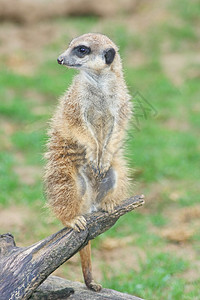
[[[112,212],[127,197],[123,142],[131,115],[130,96],[117,46],[88,33],[71,41],[58,63],[79,73],[61,97],[50,123],[45,169],[48,203],[64,226],[86,228],[84,214]],[[91,246],[80,250],[85,284],[93,280]]]

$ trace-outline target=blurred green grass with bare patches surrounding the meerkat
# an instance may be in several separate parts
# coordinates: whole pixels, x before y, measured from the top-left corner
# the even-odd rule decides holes
[[[171,1],[166,8],[181,20],[178,26],[165,20],[160,26],[150,26],[142,36],[137,32],[132,34],[123,22],[115,26],[116,21],[102,23],[90,17],[54,21],[77,34],[96,31],[96,26],[101,26],[101,31],[119,45],[124,58],[125,77],[135,103],[127,156],[131,169],[135,170],[135,192],[146,194],[147,200],[144,208],[122,217],[93,242],[94,255],[98,261],[100,253],[105,252],[105,257],[110,255],[111,259],[116,253],[113,262],[102,261],[98,265],[104,287],[155,300],[199,297],[200,270],[195,267],[200,258],[199,219],[194,215],[192,221],[180,221],[179,217],[183,210],[199,207],[200,86],[198,76],[185,78],[190,74],[186,72],[177,87],[162,65],[165,43],[170,53],[175,51],[180,56],[183,46],[184,51],[190,52],[190,48],[194,51],[197,45],[193,26],[197,22],[197,1],[192,4],[183,1],[184,5],[178,2]],[[0,207],[2,211],[7,209],[8,215],[13,206],[19,207],[22,214],[24,207],[28,209],[27,218],[22,218],[24,225],[14,228],[11,224],[10,227],[20,245],[36,242],[61,228],[58,221],[49,220],[43,208],[42,169],[47,121],[57,98],[69,86],[74,74],[55,62],[56,55],[66,44],[66,36],[63,32],[57,41],[43,48],[43,62],[38,63],[33,75],[21,75],[7,68],[6,63],[0,71]],[[137,66],[129,64],[126,55],[131,51],[133,55],[134,51],[143,53],[145,61]],[[185,68],[187,71],[190,66],[186,64]],[[173,231],[184,226],[193,230],[185,244],[163,235],[166,228]],[[9,228],[2,225],[1,230]],[[131,240],[123,248],[124,257],[116,269],[118,249],[109,252],[102,250],[102,245],[107,240],[125,241],[127,236]],[[138,255],[137,264],[133,261],[132,265],[124,266],[125,257],[130,257],[131,262],[136,255],[134,250],[128,252],[131,247],[145,255]],[[192,271],[193,279],[187,275]],[[59,272],[69,277],[72,274],[66,265]],[[75,279],[80,280],[80,275],[76,276]]]

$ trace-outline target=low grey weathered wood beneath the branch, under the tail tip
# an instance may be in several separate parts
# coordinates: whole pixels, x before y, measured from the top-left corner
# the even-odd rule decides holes
[[[110,289],[102,289],[95,293],[80,282],[72,282],[56,276],[49,276],[29,300],[63,300],[67,299],[70,293],[69,299],[72,300],[141,300],[141,298]]]

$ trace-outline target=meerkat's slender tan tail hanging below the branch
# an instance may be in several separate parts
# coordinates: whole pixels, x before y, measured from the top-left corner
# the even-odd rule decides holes
[[[83,271],[83,277],[86,286],[95,292],[99,292],[102,286],[96,283],[93,280],[92,276],[92,262],[91,262],[91,242],[89,241],[88,244],[79,251],[81,257],[81,266]]]

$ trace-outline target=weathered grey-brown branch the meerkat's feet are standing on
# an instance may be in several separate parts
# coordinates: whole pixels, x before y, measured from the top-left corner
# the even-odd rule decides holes
[[[0,236],[0,299],[28,299],[36,288],[89,240],[108,230],[120,216],[143,205],[143,196],[127,199],[111,214],[99,211],[85,216],[87,228],[76,232],[64,228],[25,248],[12,235]]]

